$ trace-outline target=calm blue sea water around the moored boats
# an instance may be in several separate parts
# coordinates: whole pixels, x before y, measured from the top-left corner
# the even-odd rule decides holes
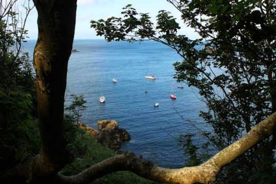
[[[34,45],[35,41],[29,40],[25,51],[32,55]],[[158,166],[182,167],[186,157],[175,139],[180,134],[198,131],[177,112],[203,130],[210,128],[198,117],[205,105],[198,99],[196,89],[185,84],[179,89],[176,86],[180,84],[172,79],[172,64],[181,58],[165,45],[151,41],[75,40],[73,49],[80,52],[72,53],[68,64],[67,96],[85,96],[87,109],[81,121],[97,128],[99,120],[116,120],[131,135],[122,150],[143,155]],[[147,71],[158,79],[146,80]],[[117,83],[112,82],[113,74]],[[177,100],[170,99],[172,83]],[[105,103],[99,102],[101,93]],[[153,107],[156,102],[159,107]],[[201,138],[195,144],[202,141]]]

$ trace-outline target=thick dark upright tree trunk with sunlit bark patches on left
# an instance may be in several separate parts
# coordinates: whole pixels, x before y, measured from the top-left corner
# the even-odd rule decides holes
[[[76,22],[76,0],[34,0],[38,12],[38,40],[34,51],[36,90],[41,137],[39,155],[31,162],[29,182],[51,178],[73,156],[63,135],[67,63]]]

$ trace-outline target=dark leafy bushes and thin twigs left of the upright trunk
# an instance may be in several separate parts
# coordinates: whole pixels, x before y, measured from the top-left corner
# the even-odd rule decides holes
[[[0,172],[27,152],[38,152],[40,143],[35,77],[28,53],[21,51],[27,31],[19,26],[15,3],[1,4],[0,11]],[[25,8],[27,13],[31,10]]]

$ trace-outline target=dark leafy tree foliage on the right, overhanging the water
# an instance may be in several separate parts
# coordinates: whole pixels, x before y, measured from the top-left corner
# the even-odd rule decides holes
[[[208,138],[213,147],[222,149],[276,111],[276,4],[262,0],[168,2],[181,12],[198,39],[178,34],[180,27],[170,12],[159,11],[154,26],[148,14],[137,13],[131,5],[124,8],[124,18],[92,20],[91,28],[107,41],[149,39],[174,49],[183,58],[174,63],[175,78],[198,89],[209,109],[200,116],[214,129]],[[232,182],[232,171],[237,168],[241,172],[234,178],[241,183],[258,173],[275,176],[272,139],[249,150],[224,169],[220,178]],[[185,150],[196,150],[189,140],[183,142]]]

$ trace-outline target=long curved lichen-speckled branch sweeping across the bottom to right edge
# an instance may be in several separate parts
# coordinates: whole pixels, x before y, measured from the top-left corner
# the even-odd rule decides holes
[[[276,128],[276,112],[257,124],[240,140],[224,148],[204,164],[196,167],[167,169],[157,167],[148,160],[129,152],[104,160],[74,176],[58,175],[60,183],[89,183],[105,174],[131,171],[147,179],[165,183],[215,183],[222,167],[245,153],[261,140],[269,137]]]

